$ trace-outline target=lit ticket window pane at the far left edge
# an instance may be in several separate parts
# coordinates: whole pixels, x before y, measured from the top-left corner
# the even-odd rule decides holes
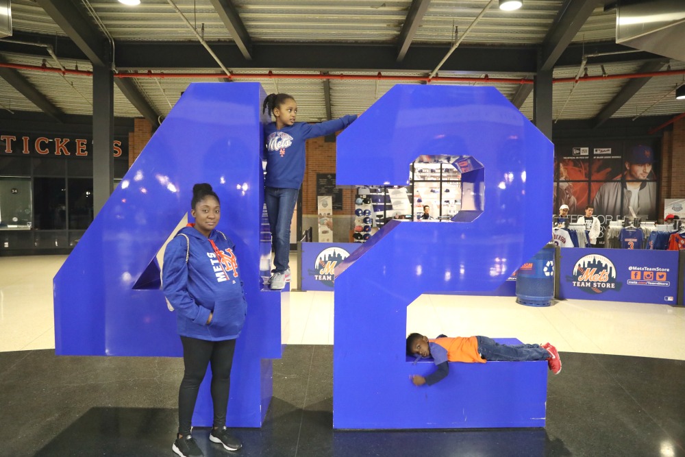
[[[0,177],[0,228],[30,228],[30,177]]]

